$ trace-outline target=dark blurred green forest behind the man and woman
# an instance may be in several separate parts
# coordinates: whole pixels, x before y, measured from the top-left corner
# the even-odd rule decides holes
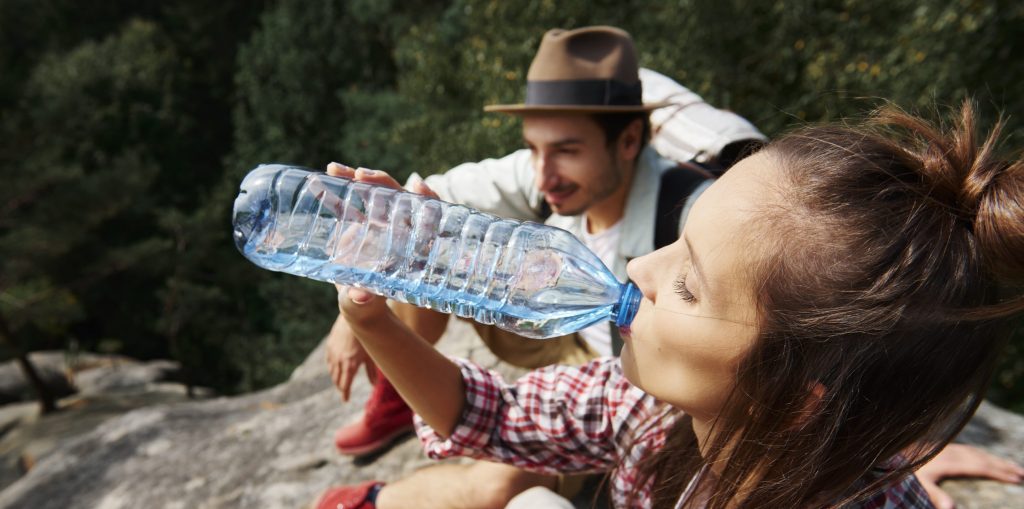
[[[504,155],[519,126],[481,107],[521,98],[546,29],[598,24],[769,136],[970,94],[1024,147],[1017,0],[0,0],[0,356],[170,357],[222,393],[283,380],[335,292],[236,251],[242,176]],[[990,398],[1024,412],[1020,332]]]

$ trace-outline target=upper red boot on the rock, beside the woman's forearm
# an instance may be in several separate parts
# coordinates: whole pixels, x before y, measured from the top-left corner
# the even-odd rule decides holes
[[[338,428],[334,433],[334,447],[343,455],[368,455],[412,430],[413,410],[378,369],[377,383],[367,400],[362,418]]]

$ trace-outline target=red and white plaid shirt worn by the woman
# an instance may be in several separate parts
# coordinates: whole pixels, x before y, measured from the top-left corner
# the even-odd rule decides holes
[[[433,459],[467,456],[547,474],[606,472],[620,466],[610,479],[611,500],[615,507],[626,507],[639,462],[665,443],[672,425],[671,419],[657,418],[665,410],[653,397],[626,380],[617,358],[552,366],[515,384],[457,362],[466,383],[466,407],[452,436],[442,438],[417,418],[417,433]],[[641,429],[649,422],[657,425]],[[636,444],[628,451],[635,436]],[[642,507],[650,506],[649,490],[639,492]],[[932,505],[911,475],[854,507]]]

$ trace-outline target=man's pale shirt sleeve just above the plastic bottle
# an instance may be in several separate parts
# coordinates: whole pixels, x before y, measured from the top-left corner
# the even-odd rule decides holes
[[[422,177],[414,173],[406,185]],[[461,164],[422,180],[445,202],[509,219],[541,219],[539,211],[543,197],[534,185],[534,169],[527,150],[501,159]]]

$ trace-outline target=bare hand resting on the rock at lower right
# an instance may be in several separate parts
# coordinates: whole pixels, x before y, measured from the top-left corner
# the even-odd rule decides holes
[[[949,477],[981,477],[1002,482],[1024,481],[1024,467],[992,456],[978,448],[950,443],[916,472],[918,480],[928,492],[928,498],[939,509],[952,509],[956,504],[939,487],[939,481]]]

